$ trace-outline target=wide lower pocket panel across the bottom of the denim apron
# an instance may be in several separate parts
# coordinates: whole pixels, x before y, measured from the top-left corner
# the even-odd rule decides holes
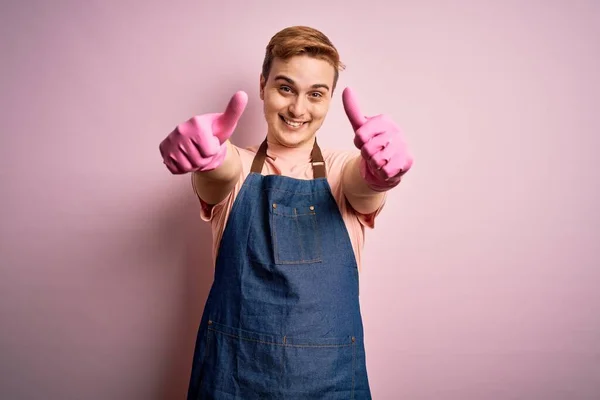
[[[299,340],[215,322],[209,324],[208,336],[204,375],[208,392],[244,399],[354,398],[353,337]]]

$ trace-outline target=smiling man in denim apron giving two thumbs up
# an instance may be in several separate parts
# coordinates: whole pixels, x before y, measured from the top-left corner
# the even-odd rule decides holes
[[[358,270],[364,227],[412,165],[387,116],[343,103],[353,152],[321,151],[339,54],[309,27],[269,42],[260,75],[268,130],[229,138],[248,97],[179,125],[161,144],[173,174],[192,173],[213,229],[215,277],[200,322],[189,399],[370,399]]]

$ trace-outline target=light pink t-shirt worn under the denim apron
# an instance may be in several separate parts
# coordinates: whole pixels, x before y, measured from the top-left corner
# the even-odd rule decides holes
[[[252,161],[258,150],[258,145],[249,148],[240,148],[232,146],[238,152],[242,162],[242,172],[240,179],[236,183],[231,193],[220,203],[210,206],[200,199],[201,218],[211,223],[213,236],[213,260],[216,255],[227,224],[227,218],[233,206],[233,203],[239,193],[244,180],[250,173]],[[267,148],[267,157],[263,166],[263,175],[284,175],[296,179],[313,179],[312,164],[310,163],[310,154],[312,146],[309,148],[289,149],[269,142]],[[323,158],[327,168],[327,180],[335,201],[338,204],[340,213],[348,230],[352,248],[357,260],[358,268],[361,267],[361,252],[365,241],[365,227],[373,228],[375,226],[375,217],[381,212],[385,197],[379,208],[368,215],[356,212],[350,203],[346,200],[342,192],[342,171],[347,161],[356,157],[359,153],[355,151],[335,151],[322,149]]]

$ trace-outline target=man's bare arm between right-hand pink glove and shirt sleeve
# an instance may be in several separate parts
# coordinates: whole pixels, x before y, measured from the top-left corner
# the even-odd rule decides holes
[[[381,206],[385,192],[371,189],[360,174],[360,160],[358,155],[348,160],[342,175],[342,191],[346,199],[361,214],[371,214]]]

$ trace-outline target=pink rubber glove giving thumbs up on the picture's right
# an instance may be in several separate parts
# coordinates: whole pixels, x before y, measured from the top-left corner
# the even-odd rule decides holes
[[[387,115],[365,117],[350,88],[344,89],[342,101],[354,129],[354,145],[362,155],[363,179],[378,192],[395,187],[413,163],[400,129]]]

